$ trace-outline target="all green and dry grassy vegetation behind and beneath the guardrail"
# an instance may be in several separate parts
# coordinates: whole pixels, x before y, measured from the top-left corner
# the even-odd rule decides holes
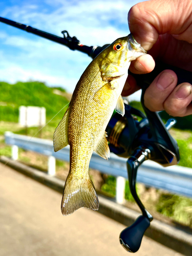
[[[24,135],[27,133],[31,137],[35,136],[52,140],[54,130],[67,110],[67,106],[58,115],[56,114],[63,106],[69,103],[69,99],[70,95],[62,88],[49,88],[42,82],[29,81],[17,82],[15,84],[0,82],[0,156],[11,156],[11,147],[4,142],[4,133],[6,131]],[[30,127],[26,131],[25,127],[18,125],[18,108],[20,105],[44,106],[46,108],[48,124],[41,132],[39,132],[39,127]],[[142,111],[140,102],[133,101],[131,105]],[[170,116],[163,112],[160,115],[164,121],[170,118]],[[51,120],[52,118],[53,120]],[[178,119],[178,123],[174,129],[170,130],[170,134],[177,140],[180,148],[181,160],[179,165],[192,168],[192,116],[182,118],[182,121],[180,118],[176,119]],[[19,149],[19,161],[44,172],[47,171],[46,156]],[[68,170],[69,163],[56,161],[56,174],[59,178],[65,180]],[[115,177],[101,175],[92,169],[90,169],[90,176],[98,193],[112,198],[115,197]],[[169,217],[173,221],[192,228],[192,199],[172,195],[155,188],[146,188],[142,184],[137,184],[137,193],[149,211],[157,212],[160,216]],[[136,206],[130,193],[128,181],[126,181],[125,199],[127,206],[135,209]]]

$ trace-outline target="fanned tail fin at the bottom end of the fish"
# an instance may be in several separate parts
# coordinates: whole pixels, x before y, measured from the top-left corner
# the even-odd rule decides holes
[[[64,216],[72,214],[75,210],[87,207],[98,210],[99,201],[92,180],[80,180],[68,175],[63,191],[61,212]]]

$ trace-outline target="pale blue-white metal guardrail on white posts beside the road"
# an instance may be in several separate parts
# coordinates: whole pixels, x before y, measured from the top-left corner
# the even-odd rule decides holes
[[[55,175],[55,159],[69,161],[69,146],[59,152],[54,152],[51,140],[30,138],[11,132],[5,133],[5,141],[12,145],[12,159],[18,159],[18,147],[48,156],[48,174]],[[116,201],[123,203],[125,180],[127,179],[126,159],[111,153],[110,159],[105,159],[93,153],[90,167],[101,173],[115,176]],[[138,169],[137,182],[149,187],[162,188],[172,193],[192,197],[192,169],[182,166],[162,167],[147,160]]]

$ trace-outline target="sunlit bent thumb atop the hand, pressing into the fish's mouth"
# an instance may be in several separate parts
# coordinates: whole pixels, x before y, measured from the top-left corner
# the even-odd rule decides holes
[[[136,4],[128,14],[130,32],[147,51],[165,33],[192,43],[191,11],[191,0],[151,0]]]

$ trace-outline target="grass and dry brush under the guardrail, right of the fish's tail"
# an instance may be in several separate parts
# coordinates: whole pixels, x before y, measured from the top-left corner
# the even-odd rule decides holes
[[[116,179],[108,176],[101,190],[115,197]],[[137,194],[141,202],[156,219],[161,220],[161,215],[169,217],[170,220],[181,223],[192,228],[192,199],[178,196],[167,191],[155,188],[147,188],[143,184],[137,183]],[[131,195],[129,182],[125,185],[125,199],[127,206],[138,210],[136,203]],[[159,215],[158,215],[159,214]]]

